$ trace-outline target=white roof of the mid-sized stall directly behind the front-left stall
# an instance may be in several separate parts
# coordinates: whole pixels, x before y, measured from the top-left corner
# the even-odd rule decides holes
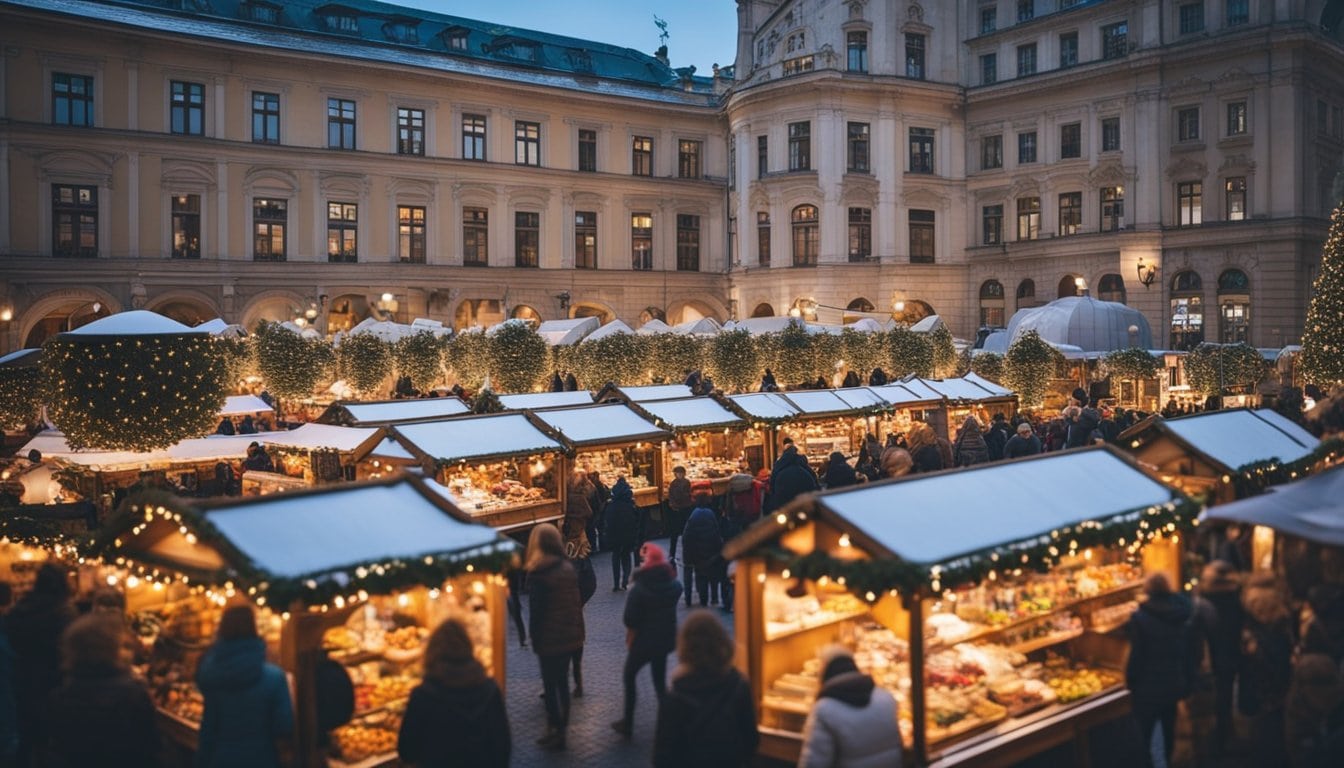
[[[390,429],[411,453],[444,464],[564,451],[521,413],[464,416]]]

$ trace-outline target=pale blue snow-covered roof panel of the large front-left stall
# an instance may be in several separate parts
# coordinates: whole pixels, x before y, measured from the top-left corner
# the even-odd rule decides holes
[[[500,541],[495,529],[453,518],[405,479],[263,499],[212,507],[206,519],[276,577],[461,553]]]

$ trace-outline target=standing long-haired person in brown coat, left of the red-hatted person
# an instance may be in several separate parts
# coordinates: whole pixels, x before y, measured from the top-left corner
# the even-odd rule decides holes
[[[560,531],[550,523],[527,539],[528,629],[542,667],[546,699],[544,749],[564,749],[570,725],[570,659],[583,647],[583,601],[579,581],[564,557]]]

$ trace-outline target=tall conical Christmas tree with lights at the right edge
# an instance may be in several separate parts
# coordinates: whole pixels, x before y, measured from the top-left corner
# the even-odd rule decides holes
[[[1322,387],[1344,382],[1344,203],[1331,214],[1321,268],[1302,332],[1302,378]]]

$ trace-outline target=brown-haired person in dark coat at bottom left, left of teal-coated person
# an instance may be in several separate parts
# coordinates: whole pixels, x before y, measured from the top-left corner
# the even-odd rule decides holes
[[[75,619],[60,639],[66,682],[46,702],[50,768],[155,768],[159,728],[144,683],[130,677],[121,654],[121,616]]]

